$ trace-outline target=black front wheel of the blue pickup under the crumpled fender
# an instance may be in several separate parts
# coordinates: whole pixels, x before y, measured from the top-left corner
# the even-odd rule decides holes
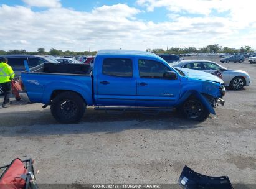
[[[195,121],[204,121],[208,118],[210,112],[197,98],[190,97],[178,107],[178,113],[180,116],[186,119]]]

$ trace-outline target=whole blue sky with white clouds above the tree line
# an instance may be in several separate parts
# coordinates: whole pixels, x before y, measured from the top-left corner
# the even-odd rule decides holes
[[[256,50],[253,0],[0,0],[0,50]]]

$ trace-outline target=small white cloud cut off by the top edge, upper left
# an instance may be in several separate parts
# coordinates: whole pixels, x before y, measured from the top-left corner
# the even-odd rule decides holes
[[[22,0],[31,7],[61,7],[60,0]]]

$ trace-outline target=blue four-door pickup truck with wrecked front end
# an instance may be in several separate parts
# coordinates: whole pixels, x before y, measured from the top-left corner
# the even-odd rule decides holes
[[[204,120],[224,104],[223,81],[214,75],[173,68],[158,55],[135,50],[100,50],[93,70],[85,64],[43,63],[21,73],[21,98],[50,105],[64,124],[80,121],[87,106],[98,110],[178,109]]]

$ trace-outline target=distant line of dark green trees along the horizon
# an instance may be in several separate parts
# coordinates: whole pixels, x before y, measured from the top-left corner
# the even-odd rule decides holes
[[[245,47],[241,47],[240,49],[230,48],[230,47],[222,47],[219,44],[215,45],[207,45],[206,47],[196,48],[196,47],[171,47],[166,50],[161,48],[156,49],[146,49],[148,52],[153,53],[166,53],[166,54],[191,54],[191,53],[249,53],[254,52],[252,47],[246,45]],[[26,50],[0,50],[0,55],[17,55],[17,54],[29,54],[29,55],[53,55],[53,56],[88,56],[88,55],[96,55],[97,51],[84,51],[84,52],[74,52],[70,50],[62,51],[57,50],[55,48],[50,49],[49,52],[45,51],[44,48],[38,48],[35,52],[29,52]]]

